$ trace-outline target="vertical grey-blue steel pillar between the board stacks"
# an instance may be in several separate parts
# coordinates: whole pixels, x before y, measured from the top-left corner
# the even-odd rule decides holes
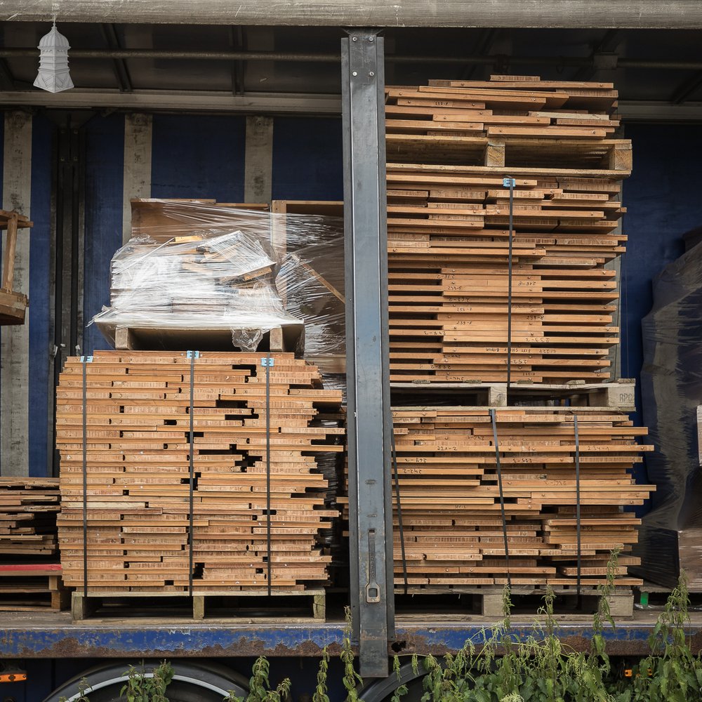
[[[342,39],[351,604],[361,674],[388,675],[394,635],[383,38]]]

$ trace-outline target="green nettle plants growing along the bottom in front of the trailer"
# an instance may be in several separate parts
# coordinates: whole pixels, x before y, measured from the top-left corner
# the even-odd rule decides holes
[[[441,660],[435,656],[411,656],[416,675],[423,668],[421,702],[702,702],[702,658],[691,653],[687,579],[681,576],[649,638],[650,654],[630,670],[612,668],[605,650],[604,627],[614,628],[609,597],[614,592],[618,552],[607,567],[607,580],[600,587],[600,600],[592,618],[588,651],[576,651],[558,637],[553,613],[555,595],[550,590],[538,610],[531,633],[519,636],[512,630],[510,591],[503,592],[503,619],[491,629],[481,630],[456,654]],[[351,611],[345,608],[345,627],[340,658],[346,702],[363,702],[358,690],[362,677],[356,672],[351,643]],[[392,661],[397,689],[390,702],[402,702],[407,694],[401,684],[401,658]],[[312,702],[329,702],[329,651],[322,651],[317,686]],[[127,702],[168,702],[166,688],[173,669],[166,661],[146,677],[143,669],[130,668],[121,691]],[[263,656],[253,664],[249,695],[230,692],[225,702],[287,702],[290,680],[270,688],[269,663]],[[87,680],[81,680],[77,702],[89,702]],[[65,702],[65,698],[63,701]]]

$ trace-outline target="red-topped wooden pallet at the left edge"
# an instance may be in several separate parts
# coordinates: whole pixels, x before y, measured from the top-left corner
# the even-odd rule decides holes
[[[60,611],[68,600],[60,564],[0,564],[0,611]]]

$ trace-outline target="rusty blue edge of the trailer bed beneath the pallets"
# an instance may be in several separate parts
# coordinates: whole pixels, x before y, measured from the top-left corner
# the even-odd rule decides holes
[[[647,640],[657,611],[634,613],[633,620],[607,627],[607,650],[614,656],[648,653]],[[432,621],[437,619],[437,621]],[[574,649],[588,649],[592,620],[560,616],[559,637]],[[702,649],[702,613],[690,615],[691,649]],[[528,635],[534,618],[513,621],[515,631]],[[471,616],[464,621],[406,615],[397,618],[395,639],[388,653],[441,655],[457,651],[494,619]],[[325,646],[332,654],[339,650],[343,620],[326,623],[232,623],[207,619],[201,623],[177,620],[164,625],[157,618],[124,621],[91,619],[72,623],[69,612],[7,613],[0,622],[0,658],[178,658],[223,656],[319,656]]]

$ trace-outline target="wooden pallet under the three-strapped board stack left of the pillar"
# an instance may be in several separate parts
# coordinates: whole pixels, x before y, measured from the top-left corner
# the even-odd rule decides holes
[[[284,618],[286,622],[305,623],[325,621],[326,594],[324,590],[304,590],[277,592],[273,590],[268,599],[267,590],[251,590],[247,592],[153,592],[141,607],[135,602],[136,598],[144,597],[139,592],[105,591],[95,594],[88,592],[84,595],[81,590],[73,592],[71,614],[73,621],[85,621],[95,616],[183,616],[180,609],[186,604],[190,610],[190,618],[202,620],[207,616],[227,618],[228,621],[247,621],[252,618]],[[174,608],[173,614],[166,615],[159,604],[165,598],[176,597],[180,607]],[[156,599],[154,599],[156,598]],[[255,600],[254,600],[255,598]],[[263,600],[265,598],[265,600]],[[159,602],[159,600],[161,602]],[[264,609],[262,610],[262,602]],[[183,604],[181,604],[183,603]],[[252,605],[253,603],[253,605]],[[307,614],[300,614],[301,609],[307,609]],[[224,611],[223,611],[224,610]]]

